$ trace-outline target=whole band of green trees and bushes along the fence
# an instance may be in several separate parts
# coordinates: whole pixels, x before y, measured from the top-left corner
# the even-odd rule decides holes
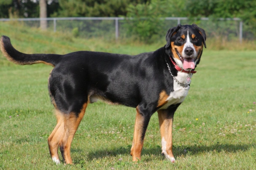
[[[159,31],[162,21],[156,19],[157,17],[210,17],[213,20],[220,17],[239,17],[243,20],[243,30],[247,31],[247,37],[252,37],[253,33],[256,35],[255,0],[51,0],[48,2],[51,2],[47,4],[48,17],[133,17],[134,21],[130,22],[131,25],[127,25],[127,35],[135,34],[138,39],[146,42],[158,38],[155,34]],[[12,16],[39,17],[39,0],[0,0],[0,18]]]

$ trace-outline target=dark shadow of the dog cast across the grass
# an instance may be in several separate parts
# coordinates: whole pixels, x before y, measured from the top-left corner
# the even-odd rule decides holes
[[[256,144],[221,144],[216,143],[214,145],[194,145],[194,146],[173,146],[173,154],[175,157],[184,157],[186,154],[190,155],[196,155],[201,152],[229,152],[229,153],[235,153],[235,152],[243,152],[247,151],[251,147],[256,147]],[[122,154],[130,154],[130,146],[127,147],[118,147],[115,149],[100,149],[96,151],[91,151],[89,154],[87,154],[87,159],[93,160],[93,159],[101,159],[104,157],[114,156],[118,157]],[[73,150],[75,152],[82,152],[80,150]],[[145,148],[142,150],[142,156],[144,155],[161,155],[161,147],[155,146],[152,148]],[[82,157],[80,157],[82,159]],[[162,157],[161,159],[164,159]],[[79,160],[77,160],[79,161]],[[143,160],[143,161],[150,161],[150,160]]]

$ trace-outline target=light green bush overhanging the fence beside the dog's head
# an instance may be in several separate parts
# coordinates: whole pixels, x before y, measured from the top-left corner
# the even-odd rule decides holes
[[[181,0],[151,0],[149,3],[129,5],[127,8],[127,35],[133,35],[146,43],[152,43],[163,37],[162,32],[166,32],[170,27],[176,24],[166,24],[167,21],[160,17],[184,17],[186,16],[186,1]],[[176,22],[177,23],[177,22]],[[159,34],[161,32],[161,34]]]

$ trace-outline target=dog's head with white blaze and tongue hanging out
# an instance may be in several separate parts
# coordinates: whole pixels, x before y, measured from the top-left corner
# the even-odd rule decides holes
[[[178,24],[167,31],[165,48],[181,68],[189,71],[199,63],[205,40],[205,30],[196,24]]]

